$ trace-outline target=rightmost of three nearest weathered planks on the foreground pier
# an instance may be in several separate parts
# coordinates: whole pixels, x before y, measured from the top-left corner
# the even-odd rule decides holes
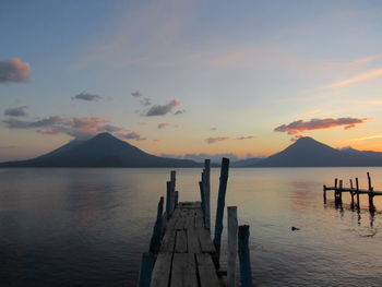
[[[216,275],[214,263],[212,262],[210,254],[196,254],[196,264],[201,287],[220,286]]]

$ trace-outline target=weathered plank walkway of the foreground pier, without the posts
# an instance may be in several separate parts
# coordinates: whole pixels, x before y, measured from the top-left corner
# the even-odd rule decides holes
[[[216,250],[204,227],[201,202],[178,203],[166,225],[151,286],[220,286],[214,256]]]

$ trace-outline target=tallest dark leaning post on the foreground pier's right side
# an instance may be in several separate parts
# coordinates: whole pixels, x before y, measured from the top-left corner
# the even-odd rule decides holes
[[[215,248],[217,251],[217,261],[220,258],[223,217],[224,217],[224,208],[225,208],[225,204],[226,204],[228,168],[229,168],[229,159],[224,157],[222,159],[220,182],[219,182],[219,190],[218,190],[218,196],[217,196],[216,218],[215,218],[214,244],[215,244]],[[217,262],[217,263],[219,263],[219,262]]]

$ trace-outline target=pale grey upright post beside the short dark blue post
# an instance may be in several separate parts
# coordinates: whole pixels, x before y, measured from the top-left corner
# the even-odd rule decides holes
[[[236,253],[238,252],[238,208],[227,207],[228,253],[227,253],[227,287],[236,285]]]

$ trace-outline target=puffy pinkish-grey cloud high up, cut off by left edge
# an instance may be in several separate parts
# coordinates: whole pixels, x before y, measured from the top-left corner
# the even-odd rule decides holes
[[[0,61],[0,83],[25,83],[29,74],[31,65],[19,58]]]

